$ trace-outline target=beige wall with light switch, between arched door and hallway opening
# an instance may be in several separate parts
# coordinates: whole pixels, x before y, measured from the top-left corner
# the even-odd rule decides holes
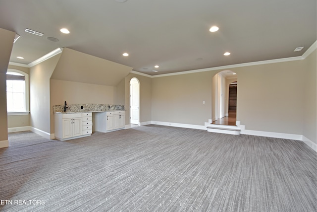
[[[152,120],[204,125],[211,119],[211,81],[216,72],[153,78]]]

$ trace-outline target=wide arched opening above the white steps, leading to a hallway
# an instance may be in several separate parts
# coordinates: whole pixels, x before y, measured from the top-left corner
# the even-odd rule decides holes
[[[220,71],[212,77],[212,124],[236,125],[237,74]]]

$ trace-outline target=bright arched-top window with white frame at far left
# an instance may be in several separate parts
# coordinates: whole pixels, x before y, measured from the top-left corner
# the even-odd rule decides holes
[[[8,115],[28,114],[29,75],[8,69],[6,72],[6,107]]]

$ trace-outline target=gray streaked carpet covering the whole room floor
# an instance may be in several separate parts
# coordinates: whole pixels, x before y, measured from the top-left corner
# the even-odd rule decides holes
[[[317,153],[301,141],[156,125],[9,141],[0,149],[5,212],[317,211]]]

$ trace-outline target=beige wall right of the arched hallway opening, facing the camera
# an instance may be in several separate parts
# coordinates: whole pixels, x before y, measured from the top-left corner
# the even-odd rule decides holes
[[[247,130],[303,133],[303,61],[231,69],[238,75],[237,121]]]

